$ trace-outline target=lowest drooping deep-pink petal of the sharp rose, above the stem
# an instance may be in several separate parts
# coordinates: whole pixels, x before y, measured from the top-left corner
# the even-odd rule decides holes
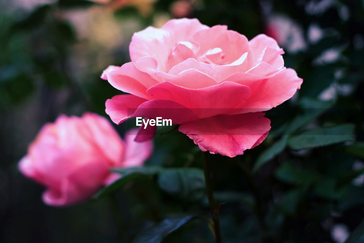
[[[261,112],[217,115],[190,121],[178,128],[202,151],[209,150],[211,154],[229,157],[241,155],[244,150],[260,144],[269,130],[270,120]]]

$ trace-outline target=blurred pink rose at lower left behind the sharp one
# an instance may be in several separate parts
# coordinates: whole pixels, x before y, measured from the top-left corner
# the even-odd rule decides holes
[[[44,203],[70,205],[117,179],[110,169],[143,165],[153,145],[134,138],[127,135],[124,142],[104,117],[93,113],[61,115],[43,126],[19,170],[47,187]]]

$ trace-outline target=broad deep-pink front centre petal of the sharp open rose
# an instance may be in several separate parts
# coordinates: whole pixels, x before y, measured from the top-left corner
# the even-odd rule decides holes
[[[250,95],[248,86],[234,82],[223,82],[202,89],[187,89],[163,82],[147,92],[155,99],[173,100],[193,110],[199,118],[224,113],[240,105]]]

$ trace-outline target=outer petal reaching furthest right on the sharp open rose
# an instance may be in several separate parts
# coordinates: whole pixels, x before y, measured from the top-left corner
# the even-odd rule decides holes
[[[252,82],[252,94],[238,108],[244,108],[242,112],[268,111],[290,99],[301,84],[302,78],[293,69],[285,69],[272,78]]]

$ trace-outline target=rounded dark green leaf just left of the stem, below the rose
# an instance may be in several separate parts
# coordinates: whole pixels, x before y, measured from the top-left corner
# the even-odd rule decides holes
[[[200,200],[205,194],[203,171],[196,168],[162,170],[158,185],[165,192],[188,201]]]

